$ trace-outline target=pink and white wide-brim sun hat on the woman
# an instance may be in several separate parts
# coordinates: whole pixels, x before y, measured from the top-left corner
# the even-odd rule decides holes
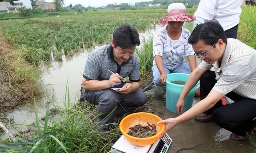
[[[158,23],[159,26],[164,26],[168,21],[176,22],[191,22],[196,20],[193,15],[186,15],[186,7],[182,3],[172,3],[168,6],[167,16],[162,18]]]

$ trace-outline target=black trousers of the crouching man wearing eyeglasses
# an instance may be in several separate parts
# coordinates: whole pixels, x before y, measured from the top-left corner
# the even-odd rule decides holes
[[[200,78],[200,100],[206,98],[214,87],[217,82],[215,77],[214,71],[206,71]],[[229,92],[226,96],[234,103],[222,106],[220,100],[204,113],[213,114],[214,122],[221,128],[237,135],[246,135],[246,131],[255,122],[253,119],[256,117],[256,100],[245,98],[235,92]]]

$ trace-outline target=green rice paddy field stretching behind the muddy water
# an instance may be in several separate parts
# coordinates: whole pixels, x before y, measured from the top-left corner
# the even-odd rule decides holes
[[[81,47],[108,43],[112,32],[124,23],[138,30],[148,29],[166,14],[165,10],[86,12],[80,15],[5,20],[0,22],[2,35],[17,49],[25,52],[34,66],[40,61],[72,55]]]

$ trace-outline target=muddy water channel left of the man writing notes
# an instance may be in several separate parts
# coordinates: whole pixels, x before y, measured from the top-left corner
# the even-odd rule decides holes
[[[72,57],[63,56],[63,61],[52,61],[42,66],[44,71],[42,80],[44,81],[45,88],[48,90],[48,96],[54,101],[55,105],[60,108],[64,107],[64,99],[66,92],[66,85],[69,88],[69,98],[71,104],[78,100],[78,92],[81,87],[82,73],[87,59],[88,53],[93,48],[82,49],[75,53]],[[49,104],[49,99],[44,97],[40,102],[37,102],[38,117],[45,116],[46,108],[53,108]],[[18,110],[14,110],[7,115],[7,118],[12,120],[14,124],[32,124],[35,122],[34,104],[25,104]],[[19,131],[26,131],[27,126],[14,126]],[[16,133],[16,129],[8,128],[12,133]],[[2,140],[6,139],[6,135]]]

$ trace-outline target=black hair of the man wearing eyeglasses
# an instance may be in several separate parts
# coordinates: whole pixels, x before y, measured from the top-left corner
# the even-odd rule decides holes
[[[226,34],[219,22],[217,20],[209,20],[195,27],[190,37],[188,37],[188,43],[195,44],[202,40],[207,45],[213,45],[219,39],[227,43]]]

